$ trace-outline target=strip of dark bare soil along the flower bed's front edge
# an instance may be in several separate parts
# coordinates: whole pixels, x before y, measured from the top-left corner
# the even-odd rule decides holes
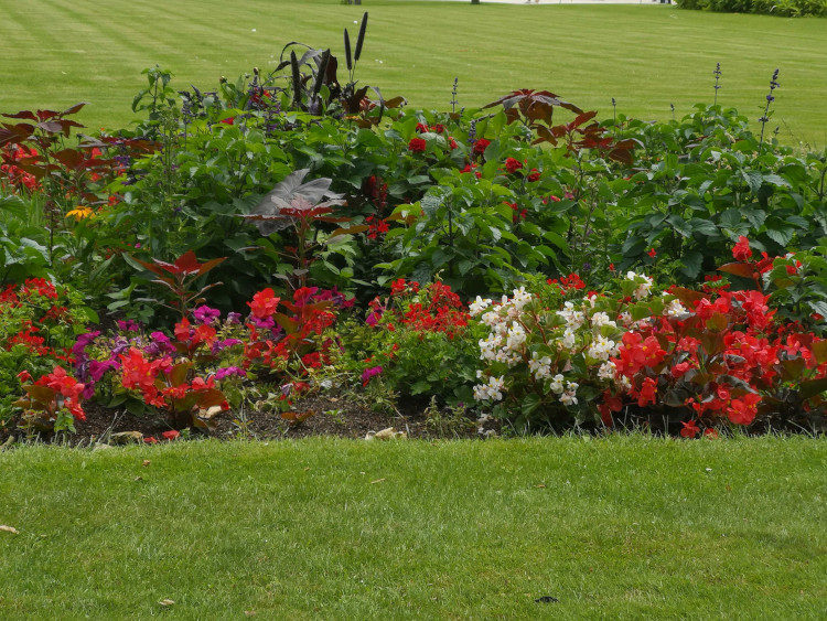
[[[289,421],[280,413],[262,411],[227,411],[215,419],[216,426],[208,433],[195,432],[217,439],[246,438],[254,440],[298,439],[310,436],[332,436],[340,438],[364,439],[369,432],[378,432],[389,427],[396,431],[404,431],[408,438],[419,439],[454,439],[483,438],[480,425],[472,415],[464,417],[452,416],[449,410],[442,410],[439,416],[427,415],[428,404],[411,401],[402,404],[393,414],[372,411],[361,404],[346,398],[315,397],[297,404],[296,410],[312,413],[301,421]],[[109,409],[95,403],[84,404],[86,421],[75,424],[76,433],[61,435],[41,433],[33,439],[44,442],[61,441],[71,446],[89,446],[97,441],[109,441],[112,433],[122,431],[138,431],[144,438],[163,440],[162,433],[171,429],[164,416],[136,416],[122,408]],[[0,445],[10,436],[15,440],[24,440],[25,432],[17,429],[18,421],[12,419],[6,428],[0,428]],[[482,425],[483,431],[500,432],[500,425],[495,420],[487,420]]]

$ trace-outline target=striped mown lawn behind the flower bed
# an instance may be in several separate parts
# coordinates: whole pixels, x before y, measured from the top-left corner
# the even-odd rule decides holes
[[[275,66],[302,41],[343,55],[362,10],[370,23],[357,77],[416,107],[447,109],[454,76],[460,103],[494,100],[513,88],[549,88],[588,109],[643,118],[678,116],[719,99],[760,116],[781,68],[776,116],[787,143],[827,144],[827,20],[680,11],[672,6],[513,6],[372,0],[28,0],[6,2],[0,20],[0,110],[92,105],[93,127],[132,119],[140,72],[155,63],[175,84],[213,88],[253,66]],[[251,32],[253,29],[256,32]],[[379,62],[382,61],[382,62]]]

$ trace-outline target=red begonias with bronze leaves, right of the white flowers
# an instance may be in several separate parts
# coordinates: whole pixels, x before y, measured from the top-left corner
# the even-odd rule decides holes
[[[747,256],[743,247],[735,253]],[[623,335],[610,361],[616,382],[603,395],[604,417],[631,400],[688,411],[707,428],[719,419],[750,425],[764,403],[769,411],[787,399],[790,382],[805,389],[805,408],[820,406],[820,390],[810,395],[806,386],[827,376],[827,343],[777,322],[767,295],[675,295],[659,314],[636,321]],[[696,421],[681,435],[699,433]]]

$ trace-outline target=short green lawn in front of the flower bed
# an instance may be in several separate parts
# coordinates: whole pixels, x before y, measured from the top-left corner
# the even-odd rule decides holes
[[[0,532],[0,618],[146,619],[171,599],[170,619],[823,619],[825,448],[22,448],[0,454],[0,524],[20,531]]]

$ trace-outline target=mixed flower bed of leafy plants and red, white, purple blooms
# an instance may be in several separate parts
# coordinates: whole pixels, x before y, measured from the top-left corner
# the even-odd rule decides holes
[[[298,428],[323,397],[824,429],[827,157],[765,139],[777,72],[756,137],[717,105],[598,121],[548,90],[408,110],[331,58],[180,98],[148,71],[147,120],[77,144],[82,105],[3,115],[0,428],[74,431],[92,400]]]

